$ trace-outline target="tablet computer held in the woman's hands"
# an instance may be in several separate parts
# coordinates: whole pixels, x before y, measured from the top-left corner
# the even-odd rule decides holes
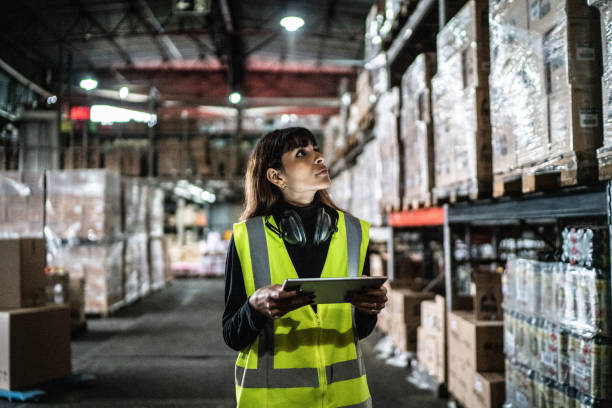
[[[283,283],[283,290],[301,289],[304,292],[312,292],[315,295],[314,302],[316,304],[348,303],[344,300],[348,292],[356,292],[366,288],[378,289],[386,280],[386,276],[287,279]]]

